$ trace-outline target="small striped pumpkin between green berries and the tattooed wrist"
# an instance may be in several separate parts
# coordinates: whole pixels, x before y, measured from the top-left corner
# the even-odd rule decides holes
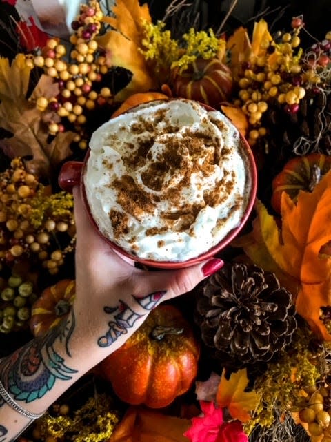
[[[63,279],[43,290],[32,305],[30,329],[34,336],[41,336],[55,327],[66,316],[76,293],[74,280]]]

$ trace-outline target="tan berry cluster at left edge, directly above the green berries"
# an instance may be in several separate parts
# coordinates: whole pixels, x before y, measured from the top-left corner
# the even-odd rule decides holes
[[[63,249],[59,236],[66,240]],[[74,238],[72,195],[47,195],[21,159],[12,160],[10,168],[0,174],[0,261],[10,265],[37,258],[56,274],[66,253],[73,251]]]

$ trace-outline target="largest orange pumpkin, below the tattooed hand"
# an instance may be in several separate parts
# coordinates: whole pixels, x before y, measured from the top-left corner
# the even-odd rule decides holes
[[[181,311],[159,305],[99,368],[122,401],[161,408],[190,389],[198,359],[199,343]]]

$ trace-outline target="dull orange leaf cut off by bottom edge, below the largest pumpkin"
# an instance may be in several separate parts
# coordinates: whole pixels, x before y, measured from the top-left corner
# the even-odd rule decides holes
[[[129,407],[108,442],[188,442],[183,433],[190,425],[189,419]]]

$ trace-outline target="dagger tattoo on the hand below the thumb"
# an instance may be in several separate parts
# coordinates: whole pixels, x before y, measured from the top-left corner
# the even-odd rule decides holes
[[[154,309],[157,302],[165,295],[166,291],[153,291],[151,294],[138,298],[132,295],[132,298],[143,307],[143,309],[150,311]],[[133,327],[134,323],[144,316],[145,314],[139,314],[134,309],[131,309],[125,302],[120,300],[118,307],[103,307],[103,310],[112,315],[112,319],[108,322],[108,330],[104,336],[98,339],[100,347],[109,347],[117,340],[122,334],[126,334],[128,329]]]

